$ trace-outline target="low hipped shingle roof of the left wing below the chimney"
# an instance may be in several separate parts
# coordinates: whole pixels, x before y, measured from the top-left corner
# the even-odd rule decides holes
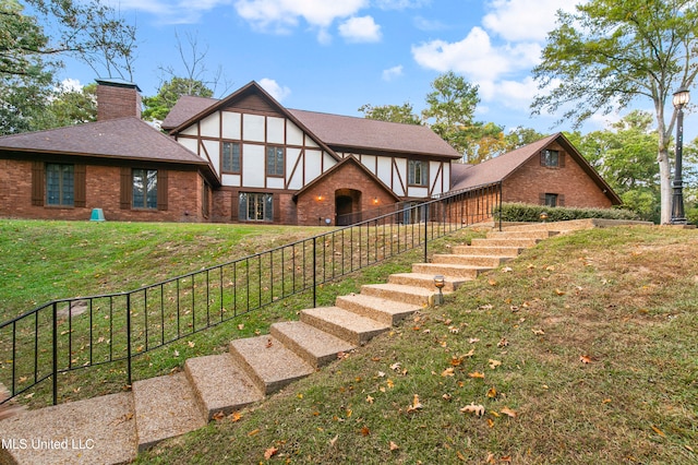
[[[200,156],[135,117],[5,135],[0,138],[0,151],[208,166]]]

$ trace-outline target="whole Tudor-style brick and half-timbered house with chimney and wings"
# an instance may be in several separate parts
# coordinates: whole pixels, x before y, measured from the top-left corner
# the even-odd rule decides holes
[[[0,138],[0,217],[335,225],[498,181],[504,201],[619,203],[562,134],[467,166],[428,127],[287,109],[252,82],[182,97],[165,135],[136,85],[97,83],[97,122]]]

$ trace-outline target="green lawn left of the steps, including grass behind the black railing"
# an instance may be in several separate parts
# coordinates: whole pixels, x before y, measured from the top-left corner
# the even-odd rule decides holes
[[[0,301],[4,303],[0,310],[0,321],[7,321],[52,299],[133,290],[178,274],[226,263],[329,230],[328,228],[246,225],[15,220],[0,222],[0,229],[2,229],[0,253],[5,259],[0,266]],[[366,231],[364,230],[363,234]],[[392,235],[389,230],[382,228],[372,229],[372,234],[387,234],[388,237]],[[345,242],[348,242],[349,238],[347,236]],[[334,257],[333,250],[340,247],[338,240],[325,242],[326,255]],[[356,243],[357,240],[354,236],[353,242]],[[467,239],[450,238],[440,241],[437,247],[445,247],[448,240]],[[368,257],[366,250],[362,250],[362,255],[359,257],[359,249],[356,249],[356,246],[353,249],[347,246],[347,250],[354,251],[347,261],[353,260],[356,263],[358,260],[375,259],[382,253],[380,246],[382,242],[376,239],[371,243],[375,247],[368,251]],[[318,245],[318,250],[322,250],[322,247]],[[306,254],[309,250],[311,249],[305,248],[305,252],[301,254]],[[318,253],[322,254],[322,252]],[[337,295],[359,291],[361,284],[384,282],[390,273],[407,271],[421,253],[421,251],[414,251],[405,257],[397,257],[377,266],[349,274],[341,281],[321,285],[317,291],[317,303],[332,305]],[[284,281],[287,284],[294,279],[300,267],[305,267],[306,275],[309,271],[312,274],[312,260],[303,261],[297,258],[297,261],[292,262],[288,255],[298,255],[296,249],[286,251],[285,255],[288,271]],[[280,263],[279,255],[275,260],[277,264]],[[296,263],[297,269],[293,269],[291,263]],[[217,272],[213,273],[210,295],[203,281],[206,277],[205,274],[198,275],[193,283],[192,279],[181,279],[177,283],[177,288],[174,284],[168,285],[164,290],[154,288],[151,298],[155,300],[152,302],[148,300],[147,311],[143,306],[143,293],[133,294],[131,296],[133,329],[131,348],[137,356],[133,358],[132,379],[145,379],[178,370],[186,358],[227,350],[230,339],[265,334],[275,321],[297,319],[301,309],[312,307],[312,294],[306,291],[269,303],[261,310],[245,313],[249,305],[252,307],[257,305],[258,295],[265,299],[268,297],[267,302],[273,301],[269,288],[275,288],[276,296],[279,295],[278,281],[275,281],[274,285],[269,284],[268,287],[265,284],[260,289],[261,286],[256,283],[248,283],[246,276],[242,273],[250,269],[253,276],[260,274],[265,282],[268,282],[269,273],[265,264],[266,259],[252,260],[251,264],[242,265],[237,270],[237,289],[239,290],[236,290],[234,298],[231,297],[232,288],[228,284],[234,279],[233,274],[231,270],[226,270],[224,281],[226,297],[222,303],[216,290]],[[321,273],[320,265],[317,270]],[[328,273],[332,273],[332,270]],[[275,279],[278,277],[277,272]],[[248,284],[252,286],[250,295],[242,291]],[[160,294],[163,294],[161,298]],[[181,306],[179,303],[174,306],[176,295],[182,298]],[[165,305],[164,317],[160,317],[164,309],[159,301]],[[194,325],[201,329],[209,323],[208,305],[212,308],[210,321],[227,320],[233,314],[236,317],[208,330],[193,332]],[[221,305],[226,309],[225,312],[218,310]],[[108,360],[111,357],[125,356],[124,298],[118,298],[115,301],[95,299],[92,306],[92,314],[85,312],[68,319],[67,313],[63,315],[60,313],[61,310],[67,311],[68,307],[63,303],[59,305],[59,369],[68,368],[69,362],[73,367],[81,367],[85,363]],[[173,313],[174,308],[177,313]],[[40,365],[39,379],[51,372],[50,314],[50,311],[43,311],[36,319],[32,317],[17,323],[16,334],[20,338],[16,349],[12,344],[11,326],[3,329],[0,334],[0,382],[11,385],[13,369],[11,360],[13,351],[16,350],[20,358],[14,367],[15,386],[19,390],[29,389],[22,393],[19,400],[28,403],[32,407],[47,405],[52,401],[50,379],[38,384],[37,388],[29,388],[35,378],[35,354]],[[148,319],[147,326],[145,318]],[[160,348],[154,348],[161,344],[160,331],[165,334],[165,339],[177,337],[180,331],[180,324],[177,324],[178,319],[181,322],[182,337]],[[38,350],[34,348],[36,325],[41,329]],[[146,334],[149,334],[147,342]],[[59,402],[118,392],[128,388],[127,363],[118,361],[80,368],[60,374],[58,381]]]

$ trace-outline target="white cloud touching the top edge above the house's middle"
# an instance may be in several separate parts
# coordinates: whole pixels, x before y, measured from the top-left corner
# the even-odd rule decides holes
[[[335,20],[354,15],[368,0],[238,0],[238,14],[260,31],[289,32],[300,20],[326,28]]]

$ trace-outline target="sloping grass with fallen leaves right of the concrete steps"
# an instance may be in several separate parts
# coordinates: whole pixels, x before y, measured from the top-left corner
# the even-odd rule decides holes
[[[697,248],[658,227],[551,239],[139,463],[696,463]]]

